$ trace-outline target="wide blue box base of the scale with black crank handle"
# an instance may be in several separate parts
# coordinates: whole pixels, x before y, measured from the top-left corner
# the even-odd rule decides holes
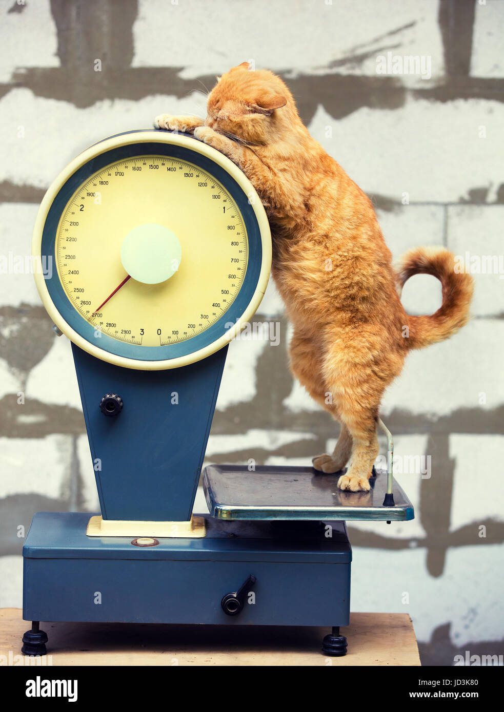
[[[344,522],[309,527],[203,518],[204,538],[158,538],[157,545],[138,547],[130,537],[86,535],[86,513],[36,514],[23,549],[24,619],[349,624],[351,547]],[[251,583],[240,612],[226,612],[222,601],[236,597],[244,582]]]

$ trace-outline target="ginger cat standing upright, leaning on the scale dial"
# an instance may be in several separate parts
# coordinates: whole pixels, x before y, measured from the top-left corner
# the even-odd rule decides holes
[[[473,280],[445,248],[416,248],[398,271],[371,201],[310,135],[284,82],[248,63],[217,79],[203,121],[160,115],[155,126],[193,133],[230,158],[262,199],[273,242],[272,275],[294,325],[290,366],[341,424],[325,473],[339,488],[368,491],[378,455],[376,422],[386,387],[410,349],[448,338],[468,320]],[[410,316],[400,290],[414,274],[436,276],[443,303]],[[330,396],[328,395],[330,394]]]

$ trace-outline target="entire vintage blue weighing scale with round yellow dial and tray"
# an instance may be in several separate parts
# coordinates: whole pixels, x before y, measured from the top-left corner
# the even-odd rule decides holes
[[[72,342],[101,515],[35,515],[24,653],[45,654],[42,620],[329,626],[324,654],[345,654],[345,520],[413,518],[391,466],[369,493],[312,468],[208,466],[210,515],[192,515],[227,345],[271,263],[240,169],[187,135],[110,137],[48,189],[34,256]]]

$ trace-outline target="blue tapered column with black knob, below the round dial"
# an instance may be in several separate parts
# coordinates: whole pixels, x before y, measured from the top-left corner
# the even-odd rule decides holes
[[[137,371],[72,344],[104,519],[190,519],[227,346],[177,369]],[[123,410],[106,417],[102,397]]]

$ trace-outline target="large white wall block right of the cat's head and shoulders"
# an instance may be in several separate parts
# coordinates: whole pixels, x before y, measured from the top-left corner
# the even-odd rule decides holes
[[[480,126],[486,138],[479,137]],[[458,202],[482,186],[493,201],[503,182],[499,101],[406,98],[401,108],[363,107],[338,121],[320,106],[309,129],[365,192],[399,202],[403,193],[410,203]]]

